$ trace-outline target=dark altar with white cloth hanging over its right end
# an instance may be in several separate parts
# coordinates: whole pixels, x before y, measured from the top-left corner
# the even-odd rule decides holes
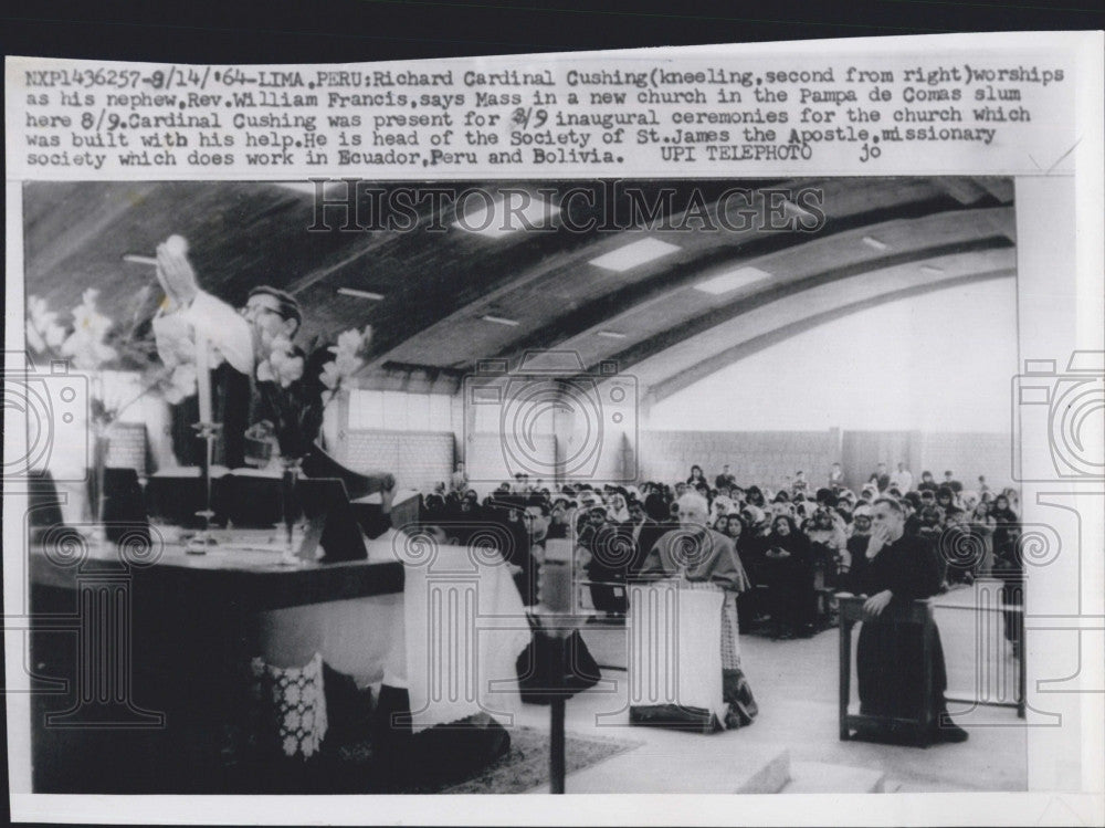
[[[404,686],[414,732],[512,723],[529,627],[497,553],[389,531],[365,560],[287,566],[282,532],[213,534],[201,555],[181,538],[32,546],[36,790],[239,793],[259,657]]]

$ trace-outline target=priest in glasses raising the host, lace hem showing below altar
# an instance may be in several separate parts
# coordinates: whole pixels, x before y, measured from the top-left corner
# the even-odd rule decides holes
[[[253,446],[267,444],[274,465],[276,454],[284,454],[298,461],[305,476],[341,479],[350,497],[379,493],[380,526],[372,534],[383,532],[390,525],[393,475],[354,473],[316,443],[324,409],[322,363],[332,357],[325,347],[308,355],[294,344],[303,323],[295,297],[262,285],[250,292],[241,312],[235,311],[199,287],[180,237],[158,245],[157,279],[166,296],[152,321],[158,355],[167,368],[194,366],[196,371],[197,392],[172,411],[177,462],[198,465],[203,447],[194,425],[220,423],[221,451],[215,464],[239,469],[245,465],[248,440]],[[277,353],[280,360],[274,356]],[[377,620],[381,612],[380,607],[368,610]],[[317,607],[298,606],[262,612],[254,619],[251,670],[254,714],[264,735],[261,743],[293,761],[315,755],[328,729],[327,636],[322,620],[327,615]],[[297,711],[294,727],[287,724],[292,709]]]

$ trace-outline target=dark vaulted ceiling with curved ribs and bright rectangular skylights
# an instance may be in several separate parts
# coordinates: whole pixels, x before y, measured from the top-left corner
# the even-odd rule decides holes
[[[201,285],[228,302],[259,284],[293,292],[304,342],[371,324],[365,387],[452,392],[478,360],[517,366],[555,348],[589,370],[615,361],[656,400],[849,313],[1015,274],[1004,178],[436,185],[490,193],[459,202],[410,187],[332,184],[322,192],[339,206],[319,212],[314,185],[29,184],[27,292],[60,310],[98,287],[117,317],[152,282],[148,265],[123,255],[150,255],[178,233]],[[501,234],[456,223],[509,190],[561,211]],[[814,191],[804,202],[771,195]],[[765,199],[785,221],[749,220],[767,217]],[[343,229],[349,217],[360,227]],[[642,240],[671,247],[632,266],[594,261]]]

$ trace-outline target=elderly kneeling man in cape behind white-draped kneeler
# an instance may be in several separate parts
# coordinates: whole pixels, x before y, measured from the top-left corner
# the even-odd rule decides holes
[[[724,725],[739,727],[751,723],[757,713],[751,689],[740,670],[740,643],[737,638],[737,596],[748,589],[748,576],[733,541],[711,528],[706,521],[706,499],[693,493],[677,501],[680,527],[656,541],[641,568],[644,578],[675,578],[685,589],[720,589],[720,642],[723,701],[728,705]]]

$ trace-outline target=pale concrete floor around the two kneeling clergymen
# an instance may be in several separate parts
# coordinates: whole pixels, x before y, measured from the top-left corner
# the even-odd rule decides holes
[[[983,691],[996,698],[994,685],[1001,690],[1008,683],[1008,678],[1001,677],[1015,677],[1015,660],[1002,647],[1000,622],[996,627],[997,640],[991,640],[994,636],[990,627],[979,625],[977,614],[969,611],[975,598],[975,590],[962,589],[938,600],[946,605],[937,608],[936,617],[947,653],[949,685],[972,691],[976,683],[981,683]],[[586,633],[589,648],[600,663],[624,663],[623,637],[620,629],[589,629]],[[838,630],[790,641],[746,633],[740,637],[740,646],[744,670],[760,711],[749,727],[707,736],[630,726],[624,710],[627,674],[604,670],[603,677],[614,682],[613,691],[600,684],[570,700],[567,729],[585,735],[643,742],[655,761],[669,765],[672,773],[693,773],[696,753],[704,761],[716,762],[718,756],[730,752],[737,761],[741,755],[769,755],[779,748],[789,751],[794,763],[882,772],[892,790],[1024,790],[1027,787],[1025,730],[1019,726],[1021,720],[1012,709],[985,706],[969,711],[967,705],[949,704],[956,721],[970,733],[970,740],[958,745],[918,748],[841,742],[836,721]],[[986,664],[986,669],[980,669],[980,664]],[[600,715],[601,724],[596,719]],[[548,708],[524,705],[519,724],[547,729],[548,717]]]

